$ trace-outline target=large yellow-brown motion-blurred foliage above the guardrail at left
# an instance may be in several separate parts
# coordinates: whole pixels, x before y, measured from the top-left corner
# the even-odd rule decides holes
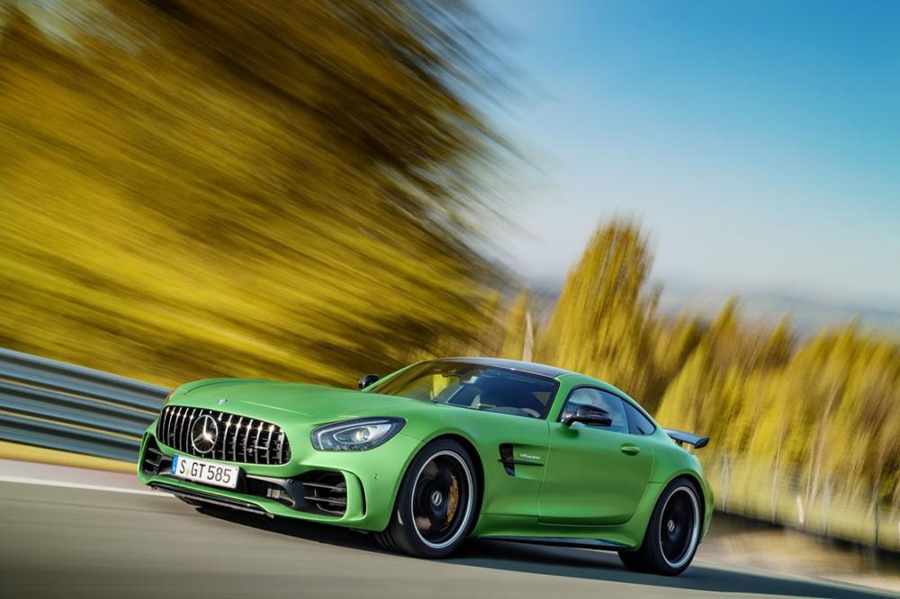
[[[0,0],[0,345],[173,383],[477,347],[455,2]]]

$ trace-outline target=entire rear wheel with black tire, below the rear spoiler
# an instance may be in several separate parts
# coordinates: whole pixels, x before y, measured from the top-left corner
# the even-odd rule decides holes
[[[656,502],[641,547],[619,551],[619,559],[635,572],[677,577],[697,553],[703,524],[700,505],[697,485],[687,478],[676,478]]]

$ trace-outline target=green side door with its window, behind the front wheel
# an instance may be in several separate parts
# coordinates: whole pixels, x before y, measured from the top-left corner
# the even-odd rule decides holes
[[[549,423],[540,522],[602,526],[625,523],[635,514],[653,469],[653,445],[643,434],[629,433],[624,402],[603,389],[572,389],[560,416]],[[606,411],[612,424],[564,425],[580,404]]]

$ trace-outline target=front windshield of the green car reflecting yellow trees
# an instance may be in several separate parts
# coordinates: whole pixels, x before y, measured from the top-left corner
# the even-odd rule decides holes
[[[374,386],[374,393],[545,418],[558,383],[539,374],[455,361],[422,362]]]

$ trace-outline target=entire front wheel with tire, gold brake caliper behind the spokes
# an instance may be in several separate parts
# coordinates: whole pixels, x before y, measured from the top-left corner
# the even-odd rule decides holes
[[[417,558],[453,553],[472,532],[478,505],[472,458],[450,439],[429,443],[403,476],[391,523],[375,539]]]

